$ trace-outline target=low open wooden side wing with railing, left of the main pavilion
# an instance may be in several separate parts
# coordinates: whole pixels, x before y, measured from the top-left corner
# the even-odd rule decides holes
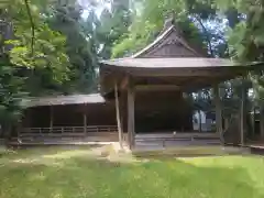
[[[100,95],[30,98],[18,128],[20,144],[117,142],[114,105]]]

